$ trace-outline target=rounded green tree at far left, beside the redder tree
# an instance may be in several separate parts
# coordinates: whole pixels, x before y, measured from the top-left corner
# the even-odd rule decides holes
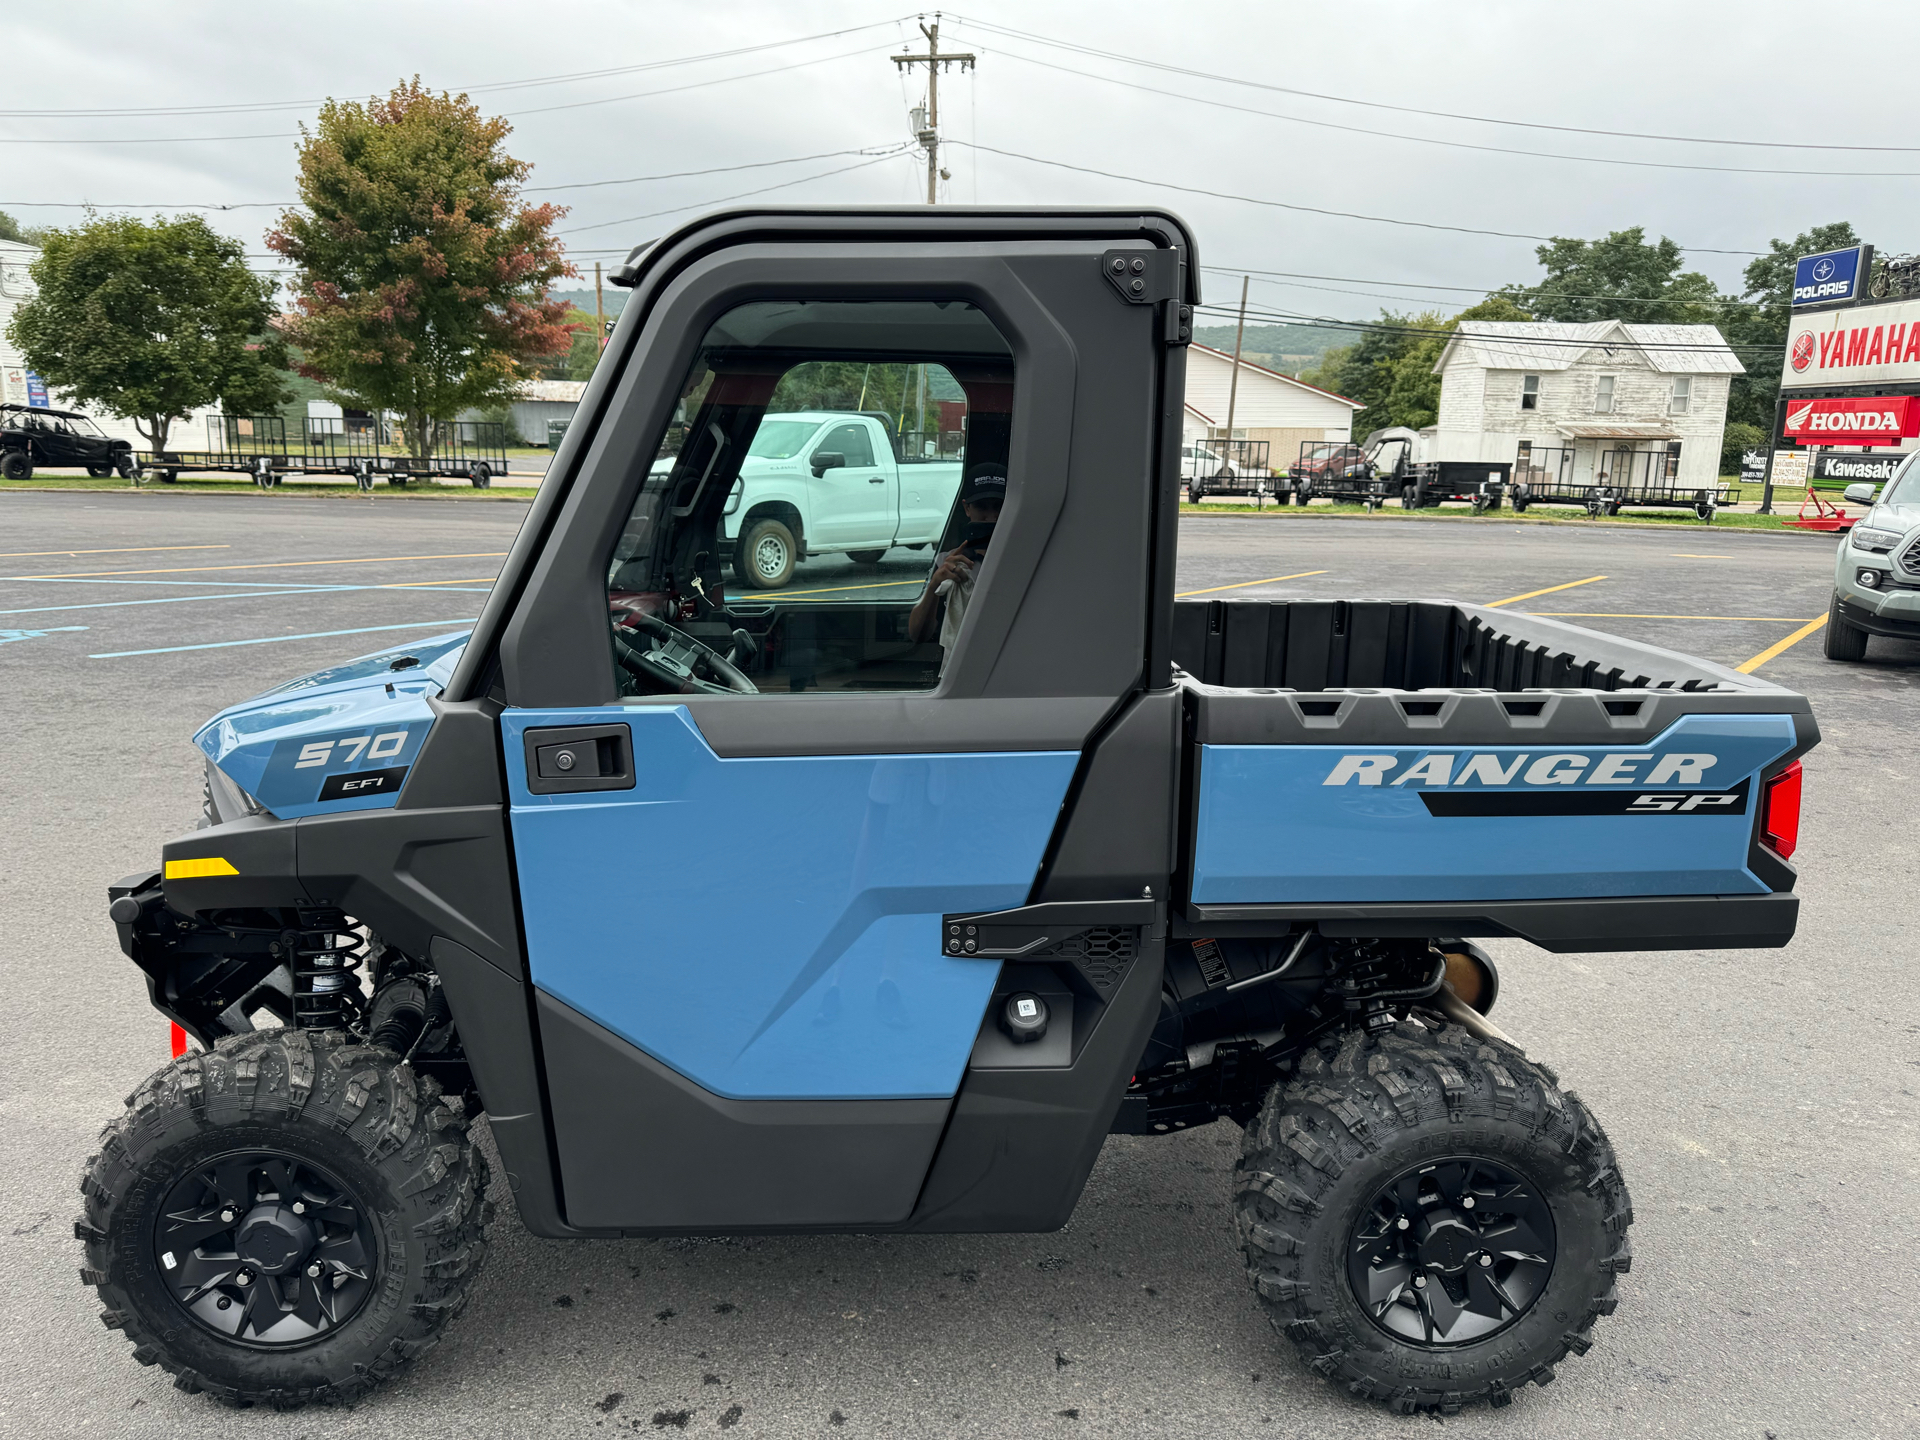
[[[154,450],[202,405],[280,403],[273,281],[198,215],[102,215],[48,231],[27,273],[35,296],[8,325],[21,359],[77,403],[131,417]]]

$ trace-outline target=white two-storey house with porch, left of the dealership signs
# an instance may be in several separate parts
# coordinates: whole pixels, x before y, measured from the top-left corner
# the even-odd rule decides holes
[[[1514,461],[1514,478],[1537,486],[1623,490],[1714,484],[1742,365],[1712,325],[1462,321],[1435,373],[1429,459]]]

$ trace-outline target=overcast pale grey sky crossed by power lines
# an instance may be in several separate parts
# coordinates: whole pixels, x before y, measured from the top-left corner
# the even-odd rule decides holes
[[[941,31],[943,50],[978,56],[976,71],[945,77],[941,129],[980,148],[943,152],[953,171],[943,198],[1170,206],[1195,227],[1206,265],[1337,277],[1256,279],[1254,305],[1302,315],[1458,309],[1483,288],[1535,279],[1537,242],[1249,200],[1537,236],[1642,225],[1687,246],[1690,267],[1733,292],[1748,261],[1739,252],[1825,221],[1852,221],[1883,250],[1915,250],[1917,21],[1911,0],[972,0],[947,12]],[[594,259],[780,181],[805,183],[766,192],[768,204],[918,200],[918,154],[872,163],[830,154],[909,140],[907,110],[924,79],[901,77],[888,60],[907,40],[920,42],[912,15],[880,0],[15,8],[0,94],[0,209],[48,225],[81,211],[35,202],[288,202],[292,134],[313,115],[305,102],[365,98],[413,73],[436,88],[469,88],[484,110],[511,117],[511,150],[534,163],[528,186],[795,161],[540,192],[572,206],[561,231],[592,273]],[[674,63],[745,46],[768,48]],[[642,65],[649,69],[509,85]],[[292,102],[304,104],[129,113]],[[1894,150],[1690,144],[1383,106],[1535,127]],[[85,108],[104,113],[48,113]],[[1594,163],[1602,159],[1641,163]],[[213,223],[259,254],[273,215],[234,209]],[[261,254],[257,263],[271,259]],[[1231,302],[1237,290],[1237,279],[1208,273],[1210,302]]]

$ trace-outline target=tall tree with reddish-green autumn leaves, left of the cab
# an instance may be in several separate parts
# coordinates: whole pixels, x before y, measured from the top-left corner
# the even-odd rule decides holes
[[[302,371],[403,417],[409,450],[436,421],[507,403],[540,359],[567,354],[576,275],[551,234],[567,211],[528,206],[513,131],[419,77],[384,100],[328,100],[300,144],[302,209],[267,246],[298,265],[288,338]]]

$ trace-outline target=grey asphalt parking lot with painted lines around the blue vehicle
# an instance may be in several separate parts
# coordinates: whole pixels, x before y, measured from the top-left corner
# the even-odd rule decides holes
[[[557,1243],[503,1199],[473,1307],[350,1412],[234,1414],[134,1366],[71,1237],[98,1126],[167,1047],[104,888],[194,824],[209,713],[457,628],[523,513],[0,496],[6,1435],[1915,1433],[1915,646],[1821,657],[1833,542],[1679,526],[1181,526],[1183,594],[1508,601],[1725,665],[1808,632],[1760,661],[1825,736],[1787,951],[1491,945],[1500,1024],[1593,1107],[1637,1209],[1621,1308],[1550,1387],[1398,1422],[1310,1376],[1241,1278],[1226,1124],[1114,1137],[1053,1235]]]

